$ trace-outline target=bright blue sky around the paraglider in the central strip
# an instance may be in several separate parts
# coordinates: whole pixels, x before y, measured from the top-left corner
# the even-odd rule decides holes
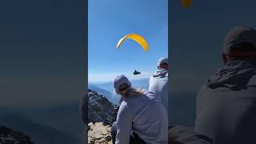
[[[112,81],[118,74],[149,78],[158,58],[168,56],[167,0],[89,0],[88,8],[89,82]],[[141,34],[149,51],[130,39],[116,50],[118,40],[130,33]],[[134,76],[135,69],[142,74]]]

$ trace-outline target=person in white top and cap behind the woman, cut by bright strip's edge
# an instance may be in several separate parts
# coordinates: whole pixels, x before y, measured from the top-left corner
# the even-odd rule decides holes
[[[159,58],[158,70],[150,77],[149,90],[168,111],[168,58]]]

